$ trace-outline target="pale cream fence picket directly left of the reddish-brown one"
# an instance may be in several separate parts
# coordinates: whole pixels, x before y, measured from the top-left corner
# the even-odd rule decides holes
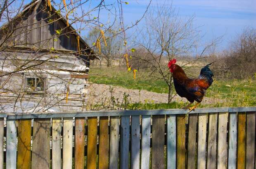
[[[62,169],[72,168],[73,118],[63,118]]]

